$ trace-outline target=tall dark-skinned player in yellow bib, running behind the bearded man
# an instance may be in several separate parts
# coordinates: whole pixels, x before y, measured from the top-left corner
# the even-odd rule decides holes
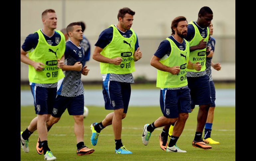
[[[187,70],[188,86],[191,95],[191,108],[199,105],[197,115],[197,126],[192,146],[202,149],[211,149],[202,140],[203,127],[205,125],[208,110],[211,104],[211,91],[209,77],[205,71],[206,44],[209,38],[209,28],[213,18],[212,10],[209,7],[202,7],[198,12],[197,21],[191,21],[188,25],[188,35],[185,37],[190,43],[189,60],[192,63],[199,62],[202,65],[200,71]],[[208,52],[208,51],[207,51]]]

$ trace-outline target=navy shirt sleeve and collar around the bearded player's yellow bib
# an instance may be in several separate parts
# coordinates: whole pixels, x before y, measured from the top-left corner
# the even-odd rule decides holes
[[[168,37],[169,39],[171,39],[171,40],[173,40],[174,41],[174,43],[176,44],[176,46],[180,49],[180,50],[182,50],[182,51],[184,51],[185,49],[186,49],[186,42],[183,40],[182,41],[182,43],[180,43],[180,42],[178,42],[177,40],[175,40],[174,39],[174,37],[173,36],[169,36]],[[170,55],[170,53],[171,53],[171,51],[172,51],[172,48],[171,48],[171,44],[170,44],[170,42],[168,41],[168,40],[163,40],[161,43],[160,43],[160,45],[159,45],[159,47],[158,47],[158,49],[157,49],[157,51],[155,52],[155,56],[156,57],[158,57],[158,58],[162,58],[162,57],[164,57],[165,55]]]

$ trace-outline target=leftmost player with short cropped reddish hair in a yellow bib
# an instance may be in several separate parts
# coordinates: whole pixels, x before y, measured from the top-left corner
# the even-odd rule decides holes
[[[57,15],[53,9],[42,13],[43,29],[30,34],[21,47],[21,61],[29,65],[29,82],[34,97],[37,117],[21,132],[23,151],[29,152],[29,137],[38,129],[45,160],[56,160],[48,147],[46,122],[53,111],[57,82],[64,78],[65,38],[57,28]],[[28,57],[26,54],[29,53]]]

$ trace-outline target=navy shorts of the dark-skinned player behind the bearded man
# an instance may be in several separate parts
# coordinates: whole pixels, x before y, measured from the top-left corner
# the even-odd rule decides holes
[[[191,95],[191,108],[195,105],[211,104],[211,89],[207,74],[201,77],[187,77]]]

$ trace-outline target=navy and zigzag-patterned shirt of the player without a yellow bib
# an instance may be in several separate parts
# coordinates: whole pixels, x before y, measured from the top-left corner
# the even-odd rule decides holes
[[[65,65],[74,65],[78,61],[82,63],[82,66],[85,65],[85,52],[83,47],[81,47],[81,45],[77,47],[71,40],[66,42],[64,55]],[[64,71],[64,75],[64,79],[61,79],[58,82],[59,85],[57,94],[65,97],[82,95],[84,90],[81,81],[81,70],[67,70]]]

